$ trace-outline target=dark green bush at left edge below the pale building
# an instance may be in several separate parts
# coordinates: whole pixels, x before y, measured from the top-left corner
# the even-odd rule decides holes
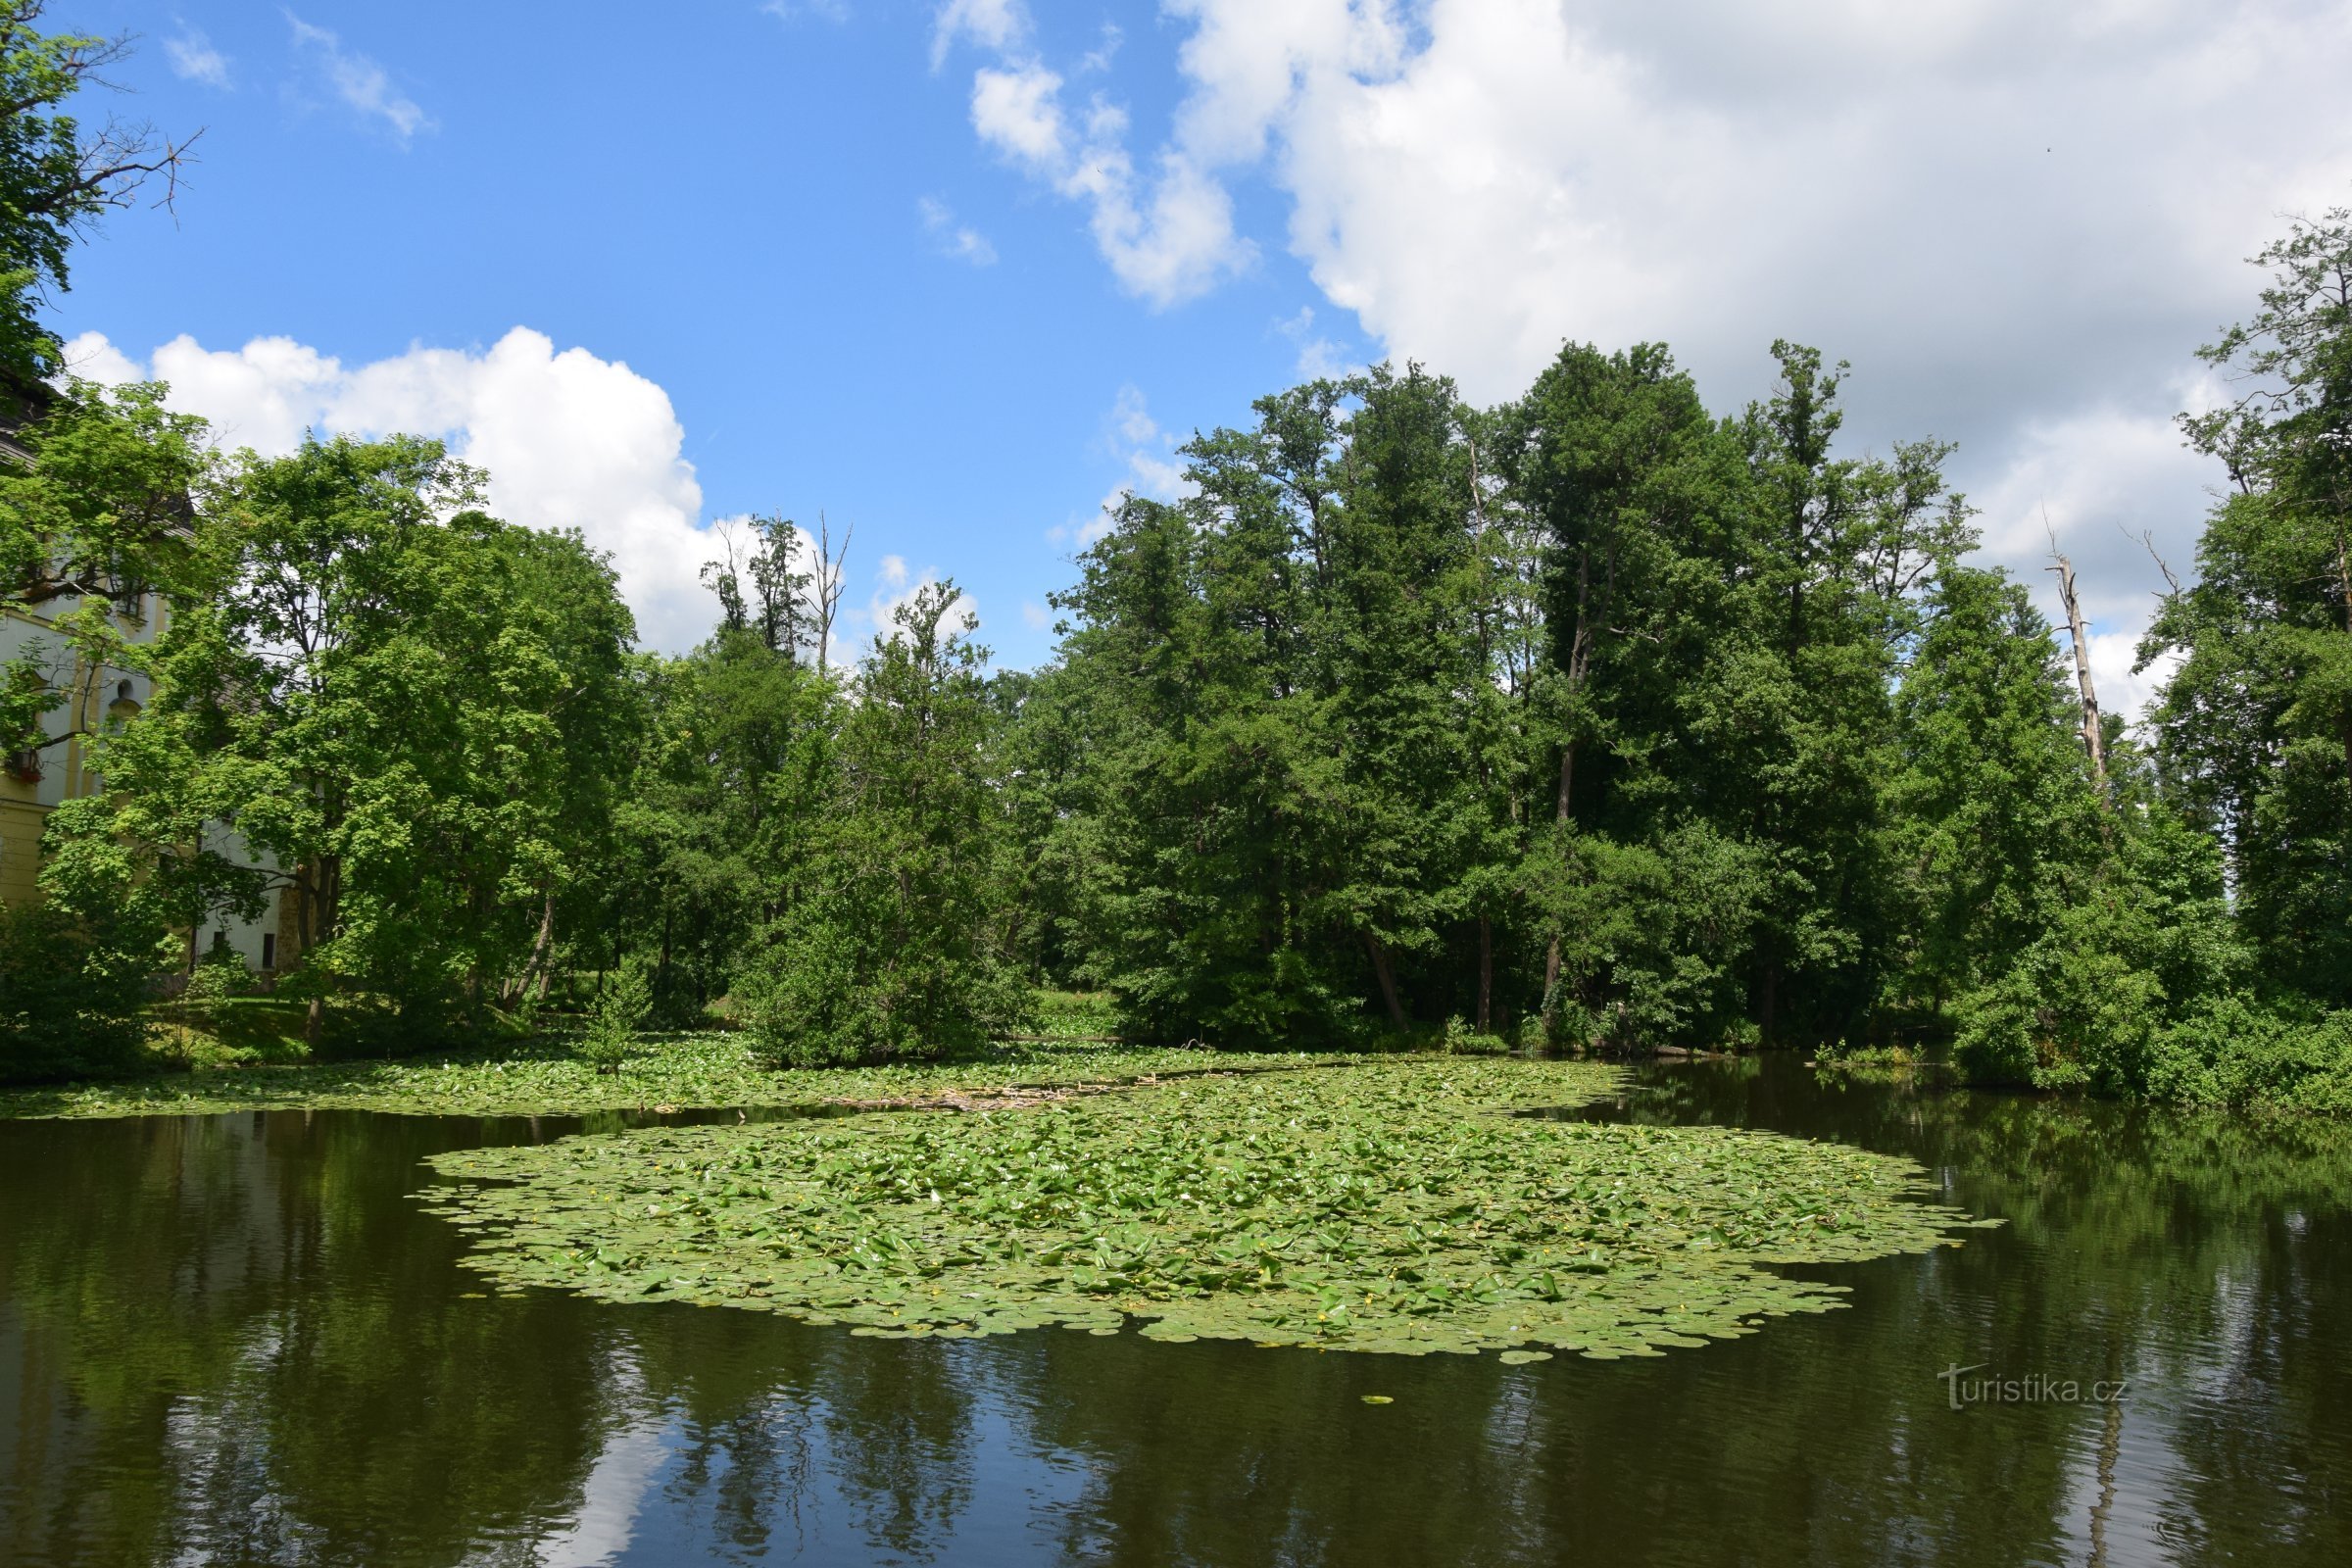
[[[0,1081],[139,1063],[146,976],[101,938],[54,905],[0,907]]]

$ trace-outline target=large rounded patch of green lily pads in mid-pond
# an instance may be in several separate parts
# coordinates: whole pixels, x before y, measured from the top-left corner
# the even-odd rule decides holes
[[[433,1161],[501,1286],[868,1335],[1023,1328],[1362,1352],[1642,1356],[1825,1312],[1778,1265],[1924,1253],[1903,1159],[1717,1126],[1515,1117],[1585,1063],[1392,1058],[1025,1110],[647,1128]]]

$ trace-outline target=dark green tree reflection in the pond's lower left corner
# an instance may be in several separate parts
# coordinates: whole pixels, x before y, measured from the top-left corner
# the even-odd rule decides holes
[[[0,1526],[28,1561],[456,1561],[579,1490],[590,1319],[456,1300],[459,1237],[405,1199],[447,1131],[322,1121],[5,1128],[28,1349]]]

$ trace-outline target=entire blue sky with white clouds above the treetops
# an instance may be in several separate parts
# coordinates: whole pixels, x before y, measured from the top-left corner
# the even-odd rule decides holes
[[[2185,557],[2211,477],[2169,425],[2211,395],[2190,350],[2279,214],[2352,190],[2345,7],[2286,0],[49,26],[141,35],[85,113],[205,127],[176,221],[78,254],[52,322],[89,371],[169,371],[263,447],[437,425],[503,510],[612,548],[670,646],[710,609],[694,529],[823,508],[863,609],[955,576],[1033,663],[1103,498],[1301,371],[1416,355],[1496,400],[1562,339],[1668,339],[1731,409],[1788,334],[1856,360],[1858,444],[1964,442],[1997,557],[2053,517],[2129,686],[2152,567],[2114,524]]]

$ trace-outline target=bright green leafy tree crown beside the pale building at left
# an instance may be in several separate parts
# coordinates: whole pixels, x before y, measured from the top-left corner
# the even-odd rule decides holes
[[[106,795],[52,816],[52,896],[195,926],[287,889],[296,985],[350,997],[383,1044],[480,1023],[529,978],[607,835],[633,628],[576,534],[485,517],[477,489],[416,440],[226,475],[155,701],[103,738]],[[221,825],[266,860],[240,865]]]

